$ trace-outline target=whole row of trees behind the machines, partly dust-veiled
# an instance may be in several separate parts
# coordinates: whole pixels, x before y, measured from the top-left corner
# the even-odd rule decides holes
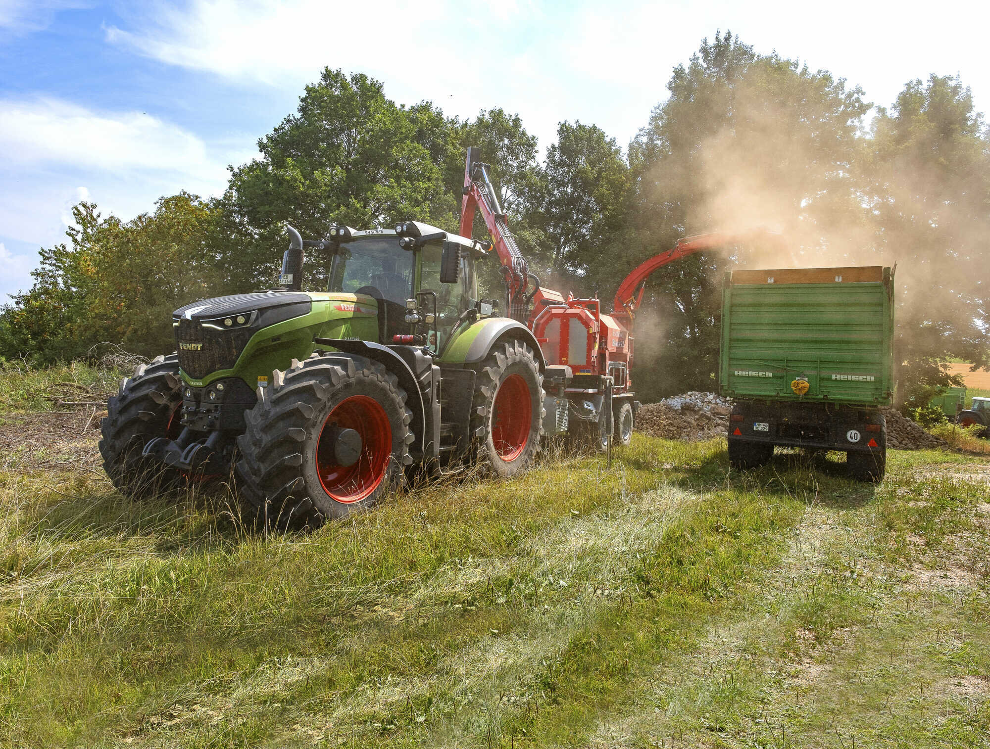
[[[721,277],[738,264],[897,262],[905,393],[945,382],[948,358],[990,364],[990,135],[957,78],[911,81],[874,110],[828,71],[726,33],[666,89],[625,151],[567,120],[542,151],[518,114],[460,121],[327,68],[258,141],[259,157],[231,169],[222,196],[180,193],[128,222],[76,206],[68,242],[42,250],[32,289],[0,312],[0,356],[54,361],[101,340],[170,350],[172,309],[271,285],[287,222],[306,236],[411,218],[456,231],[464,150],[477,145],[523,251],[562,291],[607,300],[687,234],[781,235],[655,274],[636,330],[644,400],[714,387]],[[325,259],[310,258],[311,288],[326,281]]]

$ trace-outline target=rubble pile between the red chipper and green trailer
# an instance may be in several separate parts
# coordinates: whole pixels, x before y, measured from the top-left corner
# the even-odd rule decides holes
[[[732,408],[732,401],[715,393],[691,391],[646,404],[637,414],[636,428],[664,439],[724,437]]]

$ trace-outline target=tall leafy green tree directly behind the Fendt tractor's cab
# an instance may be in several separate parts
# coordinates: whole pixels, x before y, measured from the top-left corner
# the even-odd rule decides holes
[[[232,280],[272,282],[285,222],[306,236],[326,236],[335,224],[369,229],[410,218],[449,225],[456,215],[445,185],[450,127],[429,103],[399,107],[379,81],[326,68],[298,112],[258,141],[261,157],[232,171],[223,200]],[[308,277],[316,286],[326,281],[328,258],[314,259]]]

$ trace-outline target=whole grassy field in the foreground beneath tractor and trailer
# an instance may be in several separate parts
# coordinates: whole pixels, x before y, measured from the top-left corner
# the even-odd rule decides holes
[[[986,458],[872,487],[637,434],[261,536],[123,501],[92,421],[0,417],[0,744],[990,745]]]

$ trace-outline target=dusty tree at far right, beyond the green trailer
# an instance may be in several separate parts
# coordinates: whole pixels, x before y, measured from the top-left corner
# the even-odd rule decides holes
[[[990,136],[969,89],[909,82],[875,118],[866,168],[878,247],[898,262],[904,396],[927,401],[940,362],[990,364]]]

